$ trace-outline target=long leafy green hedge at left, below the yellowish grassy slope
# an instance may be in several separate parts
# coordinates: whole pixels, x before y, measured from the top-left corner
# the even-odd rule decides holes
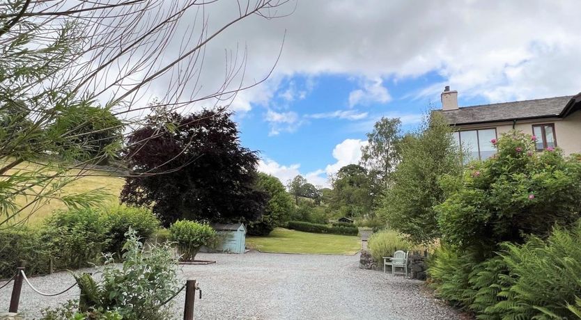
[[[148,239],[159,224],[149,209],[115,206],[56,211],[35,228],[0,230],[0,279],[10,278],[21,261],[26,275],[48,273],[51,258],[55,271],[98,264],[103,252],[121,251],[129,227]]]

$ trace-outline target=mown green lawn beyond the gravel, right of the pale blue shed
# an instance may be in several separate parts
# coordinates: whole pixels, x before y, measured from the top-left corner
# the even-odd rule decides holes
[[[359,237],[320,234],[277,227],[268,237],[247,237],[249,248],[269,253],[309,253],[315,255],[354,255],[361,245]]]

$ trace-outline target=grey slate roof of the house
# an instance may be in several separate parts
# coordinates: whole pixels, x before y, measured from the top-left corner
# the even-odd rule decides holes
[[[439,112],[442,112],[450,125],[560,117],[564,115],[569,102],[580,95],[463,106],[458,110],[439,110]],[[576,99],[573,101],[576,102]]]

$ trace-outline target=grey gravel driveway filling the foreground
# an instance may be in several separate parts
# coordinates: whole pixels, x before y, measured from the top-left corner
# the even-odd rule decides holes
[[[180,276],[195,278],[196,319],[463,319],[429,297],[423,282],[359,269],[359,255],[199,254],[216,264],[183,266]],[[68,273],[32,278],[40,290],[54,292],[72,282]],[[10,287],[10,286],[8,286]],[[21,311],[77,298],[77,288],[56,298],[34,294],[24,284]],[[176,298],[181,319],[185,294]],[[0,290],[0,310],[8,310],[10,289]]]

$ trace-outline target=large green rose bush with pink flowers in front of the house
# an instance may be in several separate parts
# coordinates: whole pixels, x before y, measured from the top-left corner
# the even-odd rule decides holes
[[[517,131],[495,145],[495,157],[472,163],[460,181],[442,179],[450,195],[436,207],[444,243],[488,256],[498,243],[571,225],[581,208],[579,159],[559,150],[534,152],[534,138]]]

